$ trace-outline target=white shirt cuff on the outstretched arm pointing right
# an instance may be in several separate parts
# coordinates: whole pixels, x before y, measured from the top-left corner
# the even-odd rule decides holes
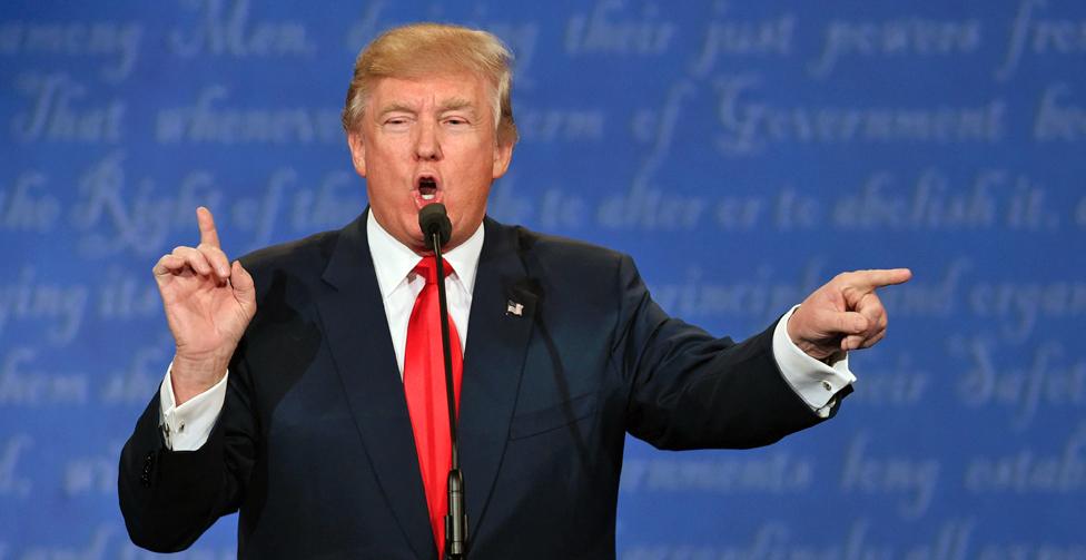
[[[848,354],[832,365],[816,360],[799,350],[788,336],[788,320],[799,305],[789,310],[773,330],[773,357],[784,380],[821,417],[830,414],[837,393],[856,381],[848,367]]]

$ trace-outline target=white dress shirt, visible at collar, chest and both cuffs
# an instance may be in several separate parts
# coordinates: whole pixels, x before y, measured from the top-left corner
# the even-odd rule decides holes
[[[423,277],[413,273],[422,257],[381,227],[373,213],[369,213],[366,220],[366,234],[374,272],[377,275],[377,286],[385,306],[388,332],[392,335],[393,348],[396,351],[396,364],[403,377],[407,321],[415,305],[415,298],[426,284]],[[444,254],[445,261],[453,268],[453,273],[445,277],[445,289],[448,314],[460,333],[461,351],[467,345],[472,292],[475,287],[475,273],[482,249],[483,226],[480,225],[466,242]],[[786,326],[796,307],[792,307],[777,323],[773,331],[773,357],[792,390],[819,416],[826,417],[836,402],[833,395],[855,382],[856,376],[849,371],[848,356],[832,365],[827,365],[808,356],[792,343]],[[204,445],[218,419],[219,411],[223,410],[228,376],[229,372],[211,389],[180,406],[175,406],[174,387],[167,370],[166,379],[159,390],[159,404],[162,435],[169,449],[194,451]]]

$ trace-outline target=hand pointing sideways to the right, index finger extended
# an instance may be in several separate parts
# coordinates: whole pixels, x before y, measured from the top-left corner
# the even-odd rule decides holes
[[[800,304],[788,321],[788,336],[816,360],[840,358],[886,336],[886,310],[875,289],[902,284],[908,268],[838,274]]]

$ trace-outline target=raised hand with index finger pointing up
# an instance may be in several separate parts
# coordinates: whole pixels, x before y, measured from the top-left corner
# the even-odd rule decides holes
[[[175,404],[203,393],[223,379],[241,334],[256,314],[253,277],[219,247],[215,218],[196,209],[200,244],[177,247],[155,265],[166,322],[177,352],[170,377]]]

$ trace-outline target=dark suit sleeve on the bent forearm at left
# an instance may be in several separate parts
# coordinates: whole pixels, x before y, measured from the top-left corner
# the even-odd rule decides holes
[[[158,394],[137,421],[118,470],[120,509],[134,543],[156,552],[185,550],[219,517],[237,511],[257,454],[243,348],[244,341],[230,363],[223,412],[198,450],[166,448]]]

